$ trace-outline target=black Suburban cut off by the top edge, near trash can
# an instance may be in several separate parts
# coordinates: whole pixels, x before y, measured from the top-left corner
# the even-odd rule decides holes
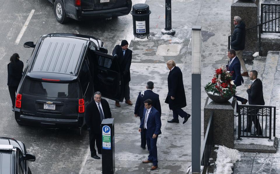
[[[68,22],[69,18],[86,20],[111,18],[129,14],[131,0],[48,0],[54,4],[56,20]]]

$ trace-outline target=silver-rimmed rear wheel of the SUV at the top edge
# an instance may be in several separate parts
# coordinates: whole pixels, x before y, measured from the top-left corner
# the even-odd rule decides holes
[[[69,17],[67,17],[65,13],[64,3],[61,0],[55,0],[54,12],[55,12],[55,18],[59,23],[64,24],[68,22]]]

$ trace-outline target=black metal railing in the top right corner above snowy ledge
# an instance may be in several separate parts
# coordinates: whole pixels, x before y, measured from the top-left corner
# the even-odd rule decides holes
[[[261,5],[261,23],[273,20],[277,17],[280,17],[280,4],[263,3]],[[265,23],[265,25],[262,26],[261,33],[280,33],[279,24],[280,19]]]

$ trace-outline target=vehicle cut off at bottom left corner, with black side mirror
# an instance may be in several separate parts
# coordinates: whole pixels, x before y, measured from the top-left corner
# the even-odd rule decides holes
[[[35,160],[34,154],[26,152],[24,143],[0,137],[0,173],[31,174],[28,161]]]

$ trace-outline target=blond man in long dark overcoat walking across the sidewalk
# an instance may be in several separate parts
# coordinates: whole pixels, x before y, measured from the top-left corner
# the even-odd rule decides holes
[[[176,66],[174,60],[167,61],[167,67],[170,70],[167,78],[168,94],[165,103],[169,104],[169,109],[173,111],[173,119],[169,123],[179,123],[179,117],[184,118],[183,124],[188,121],[190,114],[183,111],[187,106],[185,89],[183,84],[183,74],[181,69]]]

